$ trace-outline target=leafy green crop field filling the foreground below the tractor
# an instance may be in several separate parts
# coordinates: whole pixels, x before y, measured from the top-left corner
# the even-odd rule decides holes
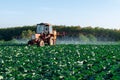
[[[120,45],[3,45],[2,79],[120,80]]]

